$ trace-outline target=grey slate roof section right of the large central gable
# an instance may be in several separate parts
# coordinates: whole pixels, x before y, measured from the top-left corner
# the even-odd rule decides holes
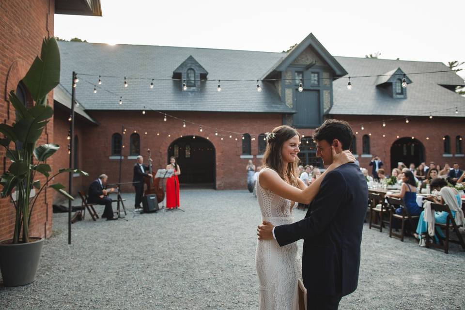
[[[376,87],[377,78],[351,78],[352,90],[347,89],[347,78],[333,82],[334,105],[329,114],[396,115],[465,117],[465,97],[440,85],[463,85],[464,80],[454,72],[424,75],[415,72],[449,70],[442,62],[412,62],[336,56],[349,73],[348,76],[381,75],[401,68],[412,81],[406,99],[393,99]],[[346,76],[346,77],[348,77]],[[455,107],[459,113],[455,114]]]

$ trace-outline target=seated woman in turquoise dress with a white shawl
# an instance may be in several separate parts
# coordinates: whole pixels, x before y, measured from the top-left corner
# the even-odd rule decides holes
[[[452,195],[457,200],[457,206],[460,208],[460,206],[462,205],[462,199],[458,191],[455,190],[455,188],[447,187],[447,181],[444,180],[443,178],[433,179],[430,183],[430,186],[432,189],[435,189],[438,191],[446,187],[445,189],[450,190]],[[427,199],[434,203],[444,204],[442,202],[437,201],[434,196],[429,196]],[[449,203],[453,203],[453,202],[449,202]],[[452,213],[452,217],[455,218],[455,212],[452,209],[450,211]],[[428,230],[428,223],[424,220],[423,213],[424,211],[421,211],[421,215],[420,215],[420,218],[418,220],[418,225],[417,225],[417,233],[414,234],[417,239],[422,239],[422,236],[426,238],[425,233]],[[438,224],[446,224],[447,216],[448,216],[448,212],[446,211],[441,211],[441,212],[434,211],[434,221]],[[441,232],[441,230],[438,227],[436,227],[435,233],[437,233],[441,237],[444,237],[444,234]],[[434,239],[436,240],[436,242],[438,241],[436,236],[434,236]],[[423,245],[424,244],[420,242],[420,246],[423,246]]]

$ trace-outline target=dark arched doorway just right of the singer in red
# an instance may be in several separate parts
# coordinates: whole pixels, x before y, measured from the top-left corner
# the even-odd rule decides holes
[[[176,157],[181,169],[180,186],[216,188],[216,156],[212,142],[198,136],[176,139],[168,147],[167,163],[171,156]]]

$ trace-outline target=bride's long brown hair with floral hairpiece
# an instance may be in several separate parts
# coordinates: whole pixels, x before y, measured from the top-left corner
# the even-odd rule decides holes
[[[281,150],[284,142],[294,136],[299,136],[300,141],[300,134],[297,130],[287,125],[278,126],[271,132],[274,133],[274,138],[269,138],[266,143],[266,150],[263,154],[263,166],[278,172],[284,181],[286,181],[287,177],[292,186],[298,187],[296,171],[300,160],[297,158],[294,162],[288,163],[286,173],[284,174],[284,160],[282,159]]]

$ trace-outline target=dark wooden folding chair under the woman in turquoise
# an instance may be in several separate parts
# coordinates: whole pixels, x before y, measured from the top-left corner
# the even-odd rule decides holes
[[[441,229],[444,229],[446,231],[445,232],[446,238],[442,238],[441,236],[437,236],[437,238],[440,241],[440,244],[434,244],[434,243],[430,243],[430,238],[431,237],[430,237],[429,233],[426,233],[426,248],[430,248],[430,247],[442,248],[442,249],[444,249],[444,252],[447,254],[449,252],[449,242],[452,242],[452,243],[461,245],[462,248],[465,250],[464,238],[462,237],[462,234],[459,231],[459,227],[463,226],[463,225],[458,226],[455,223],[455,219],[452,216],[452,212],[450,212],[449,206],[447,204],[432,203],[431,204],[431,209],[434,210],[434,211],[438,211],[438,212],[445,211],[445,212],[448,213],[447,219],[446,219],[446,224],[434,223],[434,228],[436,228],[436,226],[437,226],[437,227],[439,227]],[[458,240],[450,239],[449,231],[450,231],[451,228],[457,234]],[[444,239],[444,242],[442,241],[442,239]]]

